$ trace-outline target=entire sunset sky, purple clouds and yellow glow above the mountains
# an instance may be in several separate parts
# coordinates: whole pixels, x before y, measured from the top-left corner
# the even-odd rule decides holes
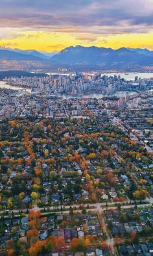
[[[153,50],[153,0],[0,0],[0,45]]]

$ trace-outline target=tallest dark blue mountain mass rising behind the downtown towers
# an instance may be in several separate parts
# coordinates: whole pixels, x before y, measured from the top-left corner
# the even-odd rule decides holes
[[[151,53],[151,52],[150,52]],[[96,65],[96,66],[124,66],[124,65],[153,65],[151,55],[145,55],[138,50],[127,49],[126,47],[114,50],[104,47],[84,47],[77,45],[70,46],[56,55],[51,60],[70,65]]]

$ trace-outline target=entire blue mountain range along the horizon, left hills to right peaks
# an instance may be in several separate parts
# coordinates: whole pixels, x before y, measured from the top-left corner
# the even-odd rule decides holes
[[[21,50],[0,47],[0,60],[34,61],[66,66],[67,68],[128,68],[153,66],[153,51],[122,47],[119,49],[104,47],[70,46],[60,52],[47,53],[36,50]],[[1,63],[0,63],[1,67]]]

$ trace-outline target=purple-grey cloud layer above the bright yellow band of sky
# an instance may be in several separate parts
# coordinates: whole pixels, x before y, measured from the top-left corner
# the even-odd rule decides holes
[[[148,32],[153,27],[152,12],[152,0],[6,0],[1,3],[0,27],[91,34]]]

